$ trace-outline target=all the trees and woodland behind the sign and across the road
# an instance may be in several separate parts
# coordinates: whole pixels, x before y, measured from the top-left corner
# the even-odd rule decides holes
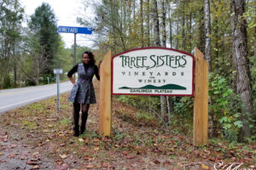
[[[86,10],[93,9],[89,18]],[[53,68],[68,71],[73,49],[64,48],[54,11],[43,3],[21,26],[18,0],[0,3],[0,88],[38,85]],[[256,98],[256,2],[253,0],[84,0],[79,24],[92,27],[99,58],[131,48],[197,47],[210,65],[209,132],[229,141],[253,141]],[[79,54],[86,48],[78,47]],[[139,109],[137,116],[173,131],[193,128],[193,98],[118,96]]]

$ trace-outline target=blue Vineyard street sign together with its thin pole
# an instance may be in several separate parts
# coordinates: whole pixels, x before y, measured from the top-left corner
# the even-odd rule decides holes
[[[76,36],[77,34],[91,34],[92,28],[87,27],[74,27],[74,26],[59,26],[58,32],[63,33],[73,33],[74,34],[74,40],[73,40],[73,62],[74,65],[77,64],[77,58],[76,58]],[[74,80],[76,80],[75,74],[74,74]]]

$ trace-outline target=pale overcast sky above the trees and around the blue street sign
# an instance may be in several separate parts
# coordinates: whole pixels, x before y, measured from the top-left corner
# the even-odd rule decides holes
[[[27,17],[34,14],[35,9],[42,3],[49,3],[55,12],[58,26],[79,26],[76,18],[82,14],[84,5],[82,0],[20,0]],[[60,33],[66,48],[71,48],[74,41],[73,33]],[[92,47],[92,42],[86,36],[77,34],[77,44]]]

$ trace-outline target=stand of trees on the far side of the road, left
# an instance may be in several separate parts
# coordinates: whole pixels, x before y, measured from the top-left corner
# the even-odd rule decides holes
[[[46,84],[48,77],[52,83],[53,69],[67,72],[73,67],[73,47],[64,47],[48,3],[27,18],[19,0],[1,1],[0,11],[0,89]],[[80,61],[82,51],[89,48],[76,48]]]

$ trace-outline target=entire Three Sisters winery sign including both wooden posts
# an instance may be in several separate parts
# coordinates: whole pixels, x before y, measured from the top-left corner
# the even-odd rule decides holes
[[[136,48],[104,56],[100,69],[99,132],[111,134],[111,95],[194,96],[194,144],[207,144],[208,65],[195,48],[192,54],[172,48]]]

